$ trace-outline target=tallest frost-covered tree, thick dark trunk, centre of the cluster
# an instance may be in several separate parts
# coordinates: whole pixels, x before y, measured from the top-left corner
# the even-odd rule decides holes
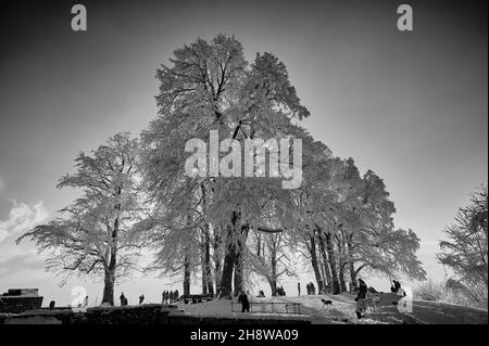
[[[190,225],[206,234],[205,253],[214,249],[216,285],[228,294],[234,277],[237,292],[249,231],[284,229],[293,207],[292,193],[281,189],[277,178],[190,178],[184,171],[186,142],[209,141],[210,130],[241,148],[243,139],[301,138],[304,131],[291,119],[300,120],[309,112],[300,104],[285,65],[269,53],[256,54],[250,65],[234,37],[198,39],[177,49],[171,64],[158,71],[158,78],[159,116],[143,131],[142,143],[145,182],[155,215],[164,219],[159,227],[172,228],[189,216]],[[203,266],[209,267],[210,257],[203,256],[208,261]]]

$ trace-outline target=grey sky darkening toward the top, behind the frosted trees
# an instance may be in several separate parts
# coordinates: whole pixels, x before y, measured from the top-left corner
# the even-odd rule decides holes
[[[75,3],[85,33],[71,30]],[[414,9],[411,33],[397,29],[401,3]],[[154,117],[155,71],[173,50],[218,33],[249,60],[272,52],[286,64],[312,114],[303,125],[384,178],[397,226],[415,230],[428,274],[443,278],[441,230],[487,182],[486,1],[17,1],[0,16],[0,291],[39,287],[45,303],[67,304],[82,284],[100,299],[100,282],[58,287],[33,244],[14,240],[73,200],[55,184],[80,150]],[[116,294],[156,302],[163,285],[181,290],[146,278]]]

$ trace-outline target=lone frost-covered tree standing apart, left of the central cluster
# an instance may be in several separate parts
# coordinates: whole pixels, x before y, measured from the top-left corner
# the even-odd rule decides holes
[[[62,216],[22,235],[49,252],[47,269],[66,274],[102,274],[102,303],[114,304],[116,278],[136,265],[138,243],[133,226],[141,217],[137,183],[138,141],[117,133],[91,155],[80,153],[76,172],[62,177],[58,188],[79,189],[82,196]]]

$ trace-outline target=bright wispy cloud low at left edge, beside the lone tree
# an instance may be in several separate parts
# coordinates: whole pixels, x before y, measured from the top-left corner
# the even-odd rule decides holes
[[[33,206],[22,202],[12,202],[13,207],[10,209],[9,219],[0,221],[0,243],[13,235],[20,236],[48,218],[48,212],[42,201]]]

